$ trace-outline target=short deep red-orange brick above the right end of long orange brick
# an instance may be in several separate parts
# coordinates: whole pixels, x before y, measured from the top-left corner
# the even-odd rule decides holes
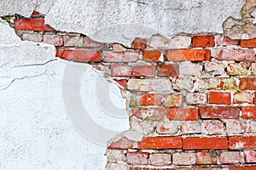
[[[193,48],[210,48],[215,46],[214,36],[194,36]]]

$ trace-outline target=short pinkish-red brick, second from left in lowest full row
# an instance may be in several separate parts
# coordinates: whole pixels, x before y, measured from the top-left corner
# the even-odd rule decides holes
[[[148,153],[128,152],[126,156],[129,165],[148,165]]]

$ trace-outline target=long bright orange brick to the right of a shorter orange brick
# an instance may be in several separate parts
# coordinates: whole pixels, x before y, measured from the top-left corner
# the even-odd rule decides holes
[[[169,49],[166,52],[168,61],[203,61],[210,57],[209,49]]]

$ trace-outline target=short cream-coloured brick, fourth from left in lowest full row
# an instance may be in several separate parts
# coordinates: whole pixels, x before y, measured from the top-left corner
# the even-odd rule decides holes
[[[179,152],[172,155],[174,165],[194,165],[195,153]]]

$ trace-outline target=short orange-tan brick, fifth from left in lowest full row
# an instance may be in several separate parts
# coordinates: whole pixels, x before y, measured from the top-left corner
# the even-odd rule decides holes
[[[210,152],[197,152],[196,162],[197,165],[217,164],[217,154]]]

